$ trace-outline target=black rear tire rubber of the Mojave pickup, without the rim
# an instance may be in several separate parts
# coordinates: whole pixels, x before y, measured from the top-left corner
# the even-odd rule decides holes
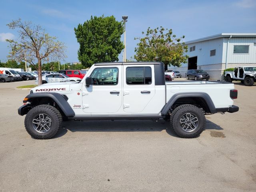
[[[198,119],[197,127],[190,132],[183,130],[180,124],[180,120],[182,116],[184,116],[184,114],[187,114],[187,113],[194,114],[194,116],[196,116],[196,118]],[[190,104],[184,104],[184,105],[178,106],[172,111],[172,114],[170,115],[170,127],[173,128],[174,132],[182,138],[198,137],[204,130],[205,123],[206,123],[206,120],[202,110]]]

